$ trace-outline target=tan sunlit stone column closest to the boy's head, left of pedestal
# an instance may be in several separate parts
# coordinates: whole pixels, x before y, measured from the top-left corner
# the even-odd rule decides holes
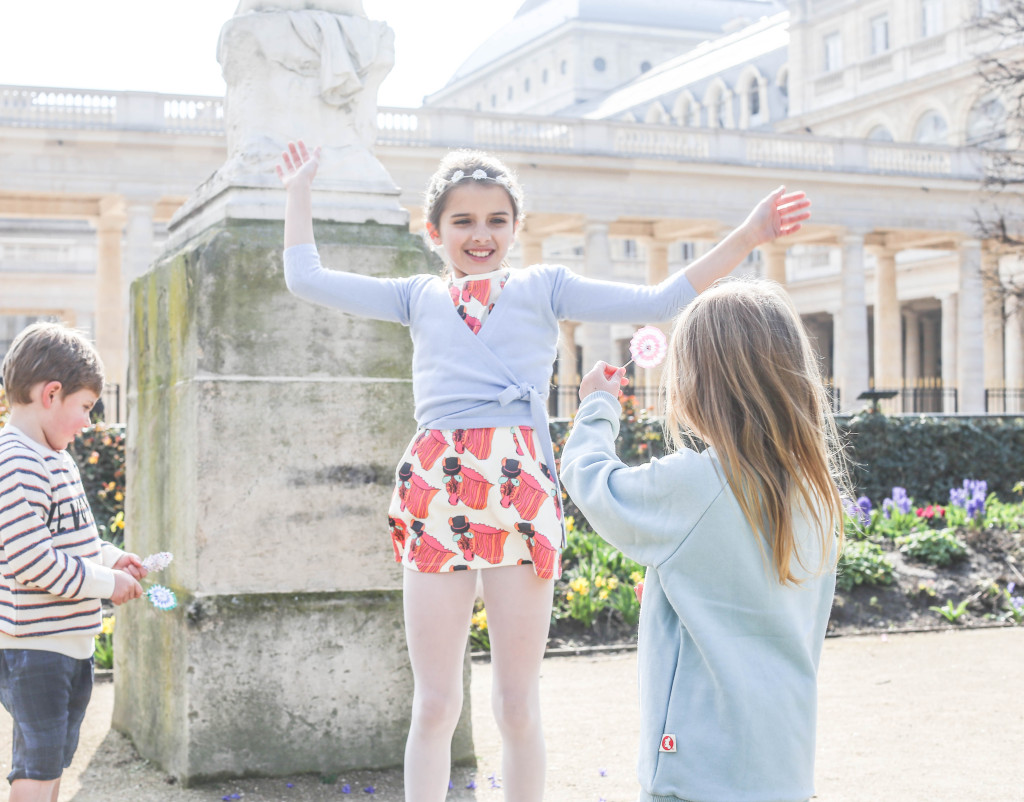
[[[110,196],[100,201],[96,226],[96,350],[103,361],[106,381],[125,386],[128,366],[125,354],[125,286],[122,280],[121,240],[124,236],[124,199]]]

